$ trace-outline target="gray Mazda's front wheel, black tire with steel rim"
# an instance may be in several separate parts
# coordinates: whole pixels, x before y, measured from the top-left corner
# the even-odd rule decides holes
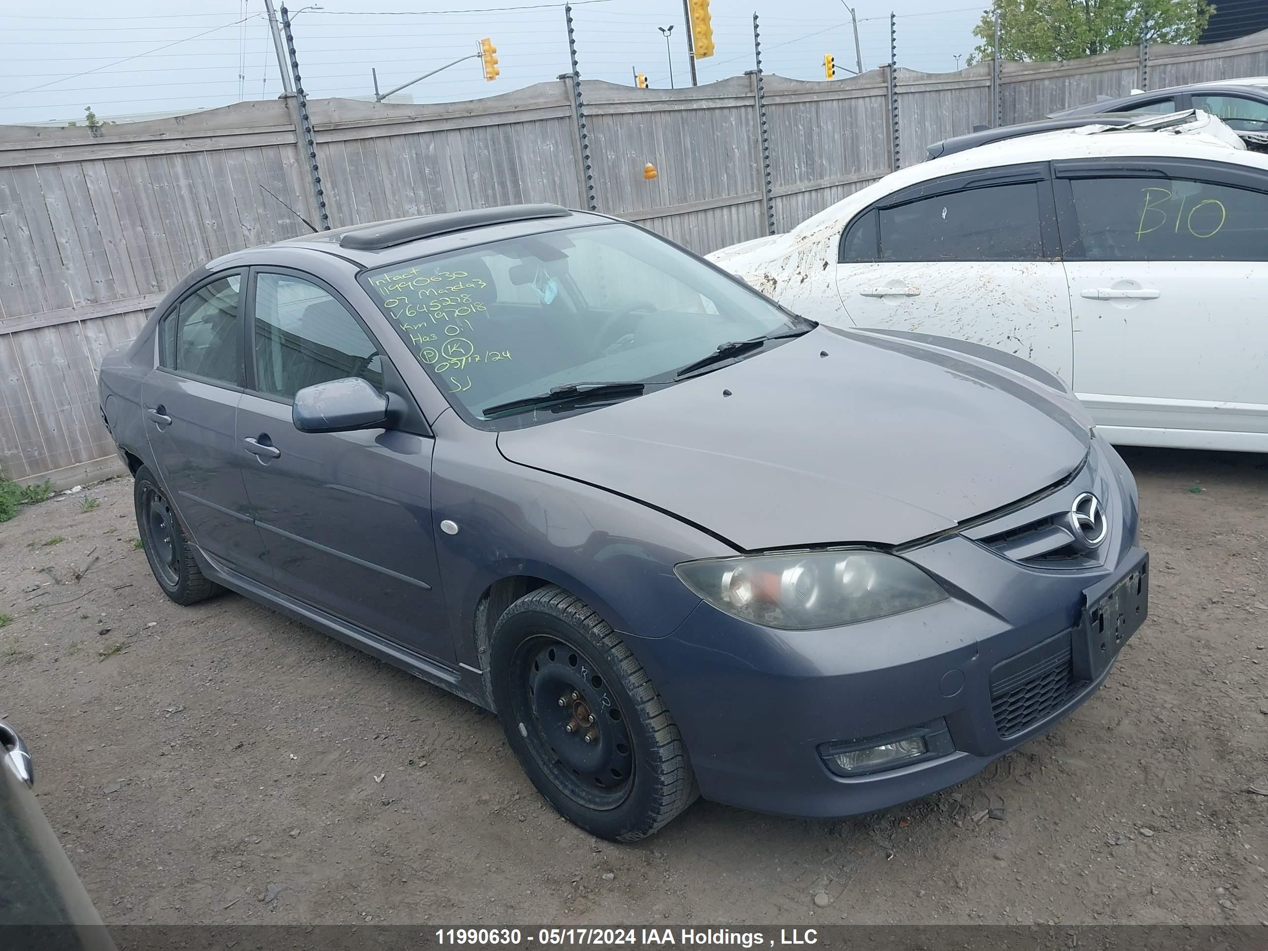
[[[579,598],[549,585],[512,604],[493,630],[489,664],[511,749],[573,824],[634,842],[700,795],[647,672]]]

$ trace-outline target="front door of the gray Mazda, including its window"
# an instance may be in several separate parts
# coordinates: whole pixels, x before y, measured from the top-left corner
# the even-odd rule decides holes
[[[237,451],[274,587],[453,661],[431,524],[431,439],[384,429],[297,430],[290,406],[299,389],[360,377],[383,391],[384,358],[314,279],[280,270],[252,279]]]

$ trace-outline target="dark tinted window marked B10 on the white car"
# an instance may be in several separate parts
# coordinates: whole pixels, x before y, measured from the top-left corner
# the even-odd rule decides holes
[[[1187,179],[1073,179],[1092,261],[1265,261],[1268,194]]]

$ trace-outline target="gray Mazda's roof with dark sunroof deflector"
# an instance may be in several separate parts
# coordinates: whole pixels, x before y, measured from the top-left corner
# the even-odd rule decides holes
[[[545,209],[552,209],[549,213]],[[606,214],[569,210],[558,205],[501,205],[472,212],[441,212],[408,218],[347,224],[311,235],[299,235],[268,245],[233,251],[208,262],[216,269],[237,262],[240,256],[257,257],[270,249],[306,249],[350,261],[359,268],[388,268],[415,257],[462,251],[505,238],[548,231],[606,224],[618,221]],[[415,236],[417,235],[417,236]],[[349,240],[345,245],[344,241]]]

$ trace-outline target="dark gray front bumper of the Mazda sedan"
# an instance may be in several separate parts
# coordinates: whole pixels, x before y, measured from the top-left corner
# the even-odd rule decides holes
[[[671,637],[631,643],[678,723],[701,794],[785,815],[874,812],[973,776],[1084,702],[1118,647],[1090,656],[1089,596],[1140,573],[1137,625],[1148,601],[1135,486],[1112,450],[1094,451],[1108,463],[1098,495],[1117,515],[1096,567],[1038,569],[952,535],[904,554],[951,593],[941,604],[814,631],[761,628],[701,604]],[[923,762],[841,776],[822,754],[938,720],[954,752]]]

